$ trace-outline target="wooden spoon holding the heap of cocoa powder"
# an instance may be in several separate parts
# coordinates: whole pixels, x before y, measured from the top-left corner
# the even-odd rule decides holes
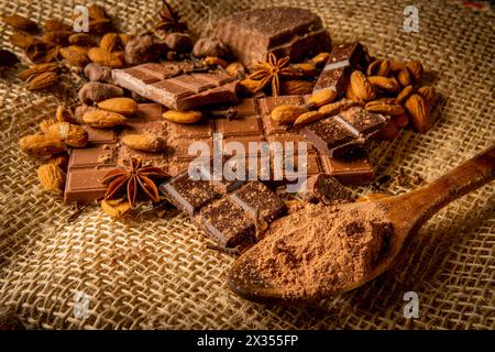
[[[369,275],[358,282],[343,285],[343,288],[334,292],[334,295],[360,287],[384,273],[395,263],[405,244],[437,211],[494,178],[495,145],[429,185],[400,196],[373,201],[385,209],[387,220],[394,228],[388,251]],[[350,210],[359,206],[360,204],[345,205],[342,209]],[[270,241],[268,235],[233,263],[228,284],[235,294],[261,302],[310,302],[317,298],[328,298],[319,295],[294,297],[287,295],[290,287],[275,285],[263,278],[263,272],[258,270],[256,261],[250,253],[256,252],[257,246],[268,245]],[[329,256],[328,261],[332,261],[332,257]],[[246,267],[250,270],[246,271]]]

